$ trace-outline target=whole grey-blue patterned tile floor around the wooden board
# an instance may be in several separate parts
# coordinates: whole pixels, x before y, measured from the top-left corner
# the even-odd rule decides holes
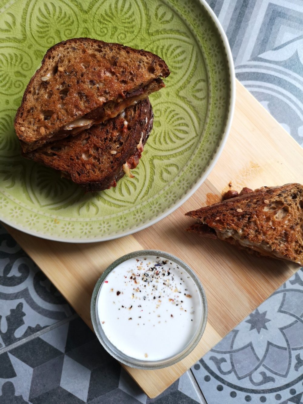
[[[303,145],[303,1],[208,0],[236,77]],[[303,404],[303,271],[156,399],[0,227],[0,404]]]

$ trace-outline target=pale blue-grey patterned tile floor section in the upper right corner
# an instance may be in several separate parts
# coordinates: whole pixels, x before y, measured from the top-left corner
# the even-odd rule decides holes
[[[211,0],[236,77],[303,144],[303,7],[296,0]]]

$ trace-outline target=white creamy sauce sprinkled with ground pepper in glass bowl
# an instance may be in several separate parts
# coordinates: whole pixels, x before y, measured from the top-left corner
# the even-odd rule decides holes
[[[164,360],[187,347],[202,317],[194,280],[173,261],[131,258],[109,273],[97,298],[97,321],[125,355]]]

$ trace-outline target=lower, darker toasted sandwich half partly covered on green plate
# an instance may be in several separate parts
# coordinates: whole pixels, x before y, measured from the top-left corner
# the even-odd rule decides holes
[[[63,177],[86,191],[102,191],[116,186],[124,173],[132,176],[130,168],[139,163],[152,125],[153,112],[146,99],[104,124],[45,143],[23,156],[61,170]]]

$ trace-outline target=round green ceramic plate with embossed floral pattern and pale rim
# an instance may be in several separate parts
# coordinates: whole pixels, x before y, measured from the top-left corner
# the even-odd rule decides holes
[[[0,0],[0,219],[52,240],[108,240],[143,229],[180,206],[209,174],[234,108],[226,37],[198,0]],[[150,50],[171,74],[151,95],[154,129],[135,178],[84,194],[20,155],[13,120],[46,50],[68,38]]]

